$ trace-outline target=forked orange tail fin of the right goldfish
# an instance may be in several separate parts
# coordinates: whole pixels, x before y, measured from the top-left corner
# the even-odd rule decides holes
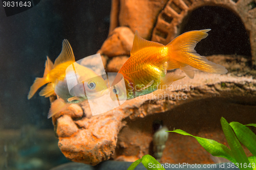
[[[176,37],[173,41],[168,43],[166,46],[168,47],[168,65],[167,69],[185,67],[186,65],[190,65],[196,69],[201,71],[208,72],[210,74],[226,74],[227,69],[219,64],[213,63],[206,59],[204,56],[200,56],[194,50],[196,44],[207,37],[207,30],[199,30],[199,31],[189,31],[178,37]],[[189,75],[189,74],[188,74]],[[190,75],[193,77],[190,71]]]

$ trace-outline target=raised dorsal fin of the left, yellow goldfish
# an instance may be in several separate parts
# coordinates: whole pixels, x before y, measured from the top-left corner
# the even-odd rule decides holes
[[[67,61],[75,62],[75,56],[69,41],[67,39],[64,39],[62,41],[62,50],[54,62],[54,67]]]

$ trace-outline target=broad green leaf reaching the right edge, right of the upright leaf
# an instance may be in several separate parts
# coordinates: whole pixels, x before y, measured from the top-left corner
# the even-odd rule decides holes
[[[256,156],[256,135],[249,128],[238,122],[231,122],[229,125],[233,128],[238,140]]]

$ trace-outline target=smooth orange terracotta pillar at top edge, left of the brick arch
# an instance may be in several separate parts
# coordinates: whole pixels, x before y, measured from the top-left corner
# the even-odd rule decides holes
[[[129,27],[140,36],[149,39],[158,14],[167,0],[112,0],[110,33],[116,27]],[[119,8],[120,6],[120,8]]]

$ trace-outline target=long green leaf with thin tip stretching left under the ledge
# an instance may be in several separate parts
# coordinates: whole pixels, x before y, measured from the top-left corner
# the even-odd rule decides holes
[[[167,132],[175,132],[175,133],[179,133],[179,134],[186,135],[186,136],[193,136],[193,135],[190,135],[189,133],[187,133],[183,130],[180,130],[180,129],[176,129],[174,131],[167,131]],[[211,140],[211,139],[206,139],[206,138],[197,137],[197,136],[193,136],[193,137],[195,137],[197,139],[197,141],[202,145],[202,147],[204,147],[204,149],[207,152],[209,152],[212,156],[226,158],[233,163],[237,163],[232,155],[231,150],[228,149],[224,144],[221,144],[221,143],[219,143],[215,140]]]

